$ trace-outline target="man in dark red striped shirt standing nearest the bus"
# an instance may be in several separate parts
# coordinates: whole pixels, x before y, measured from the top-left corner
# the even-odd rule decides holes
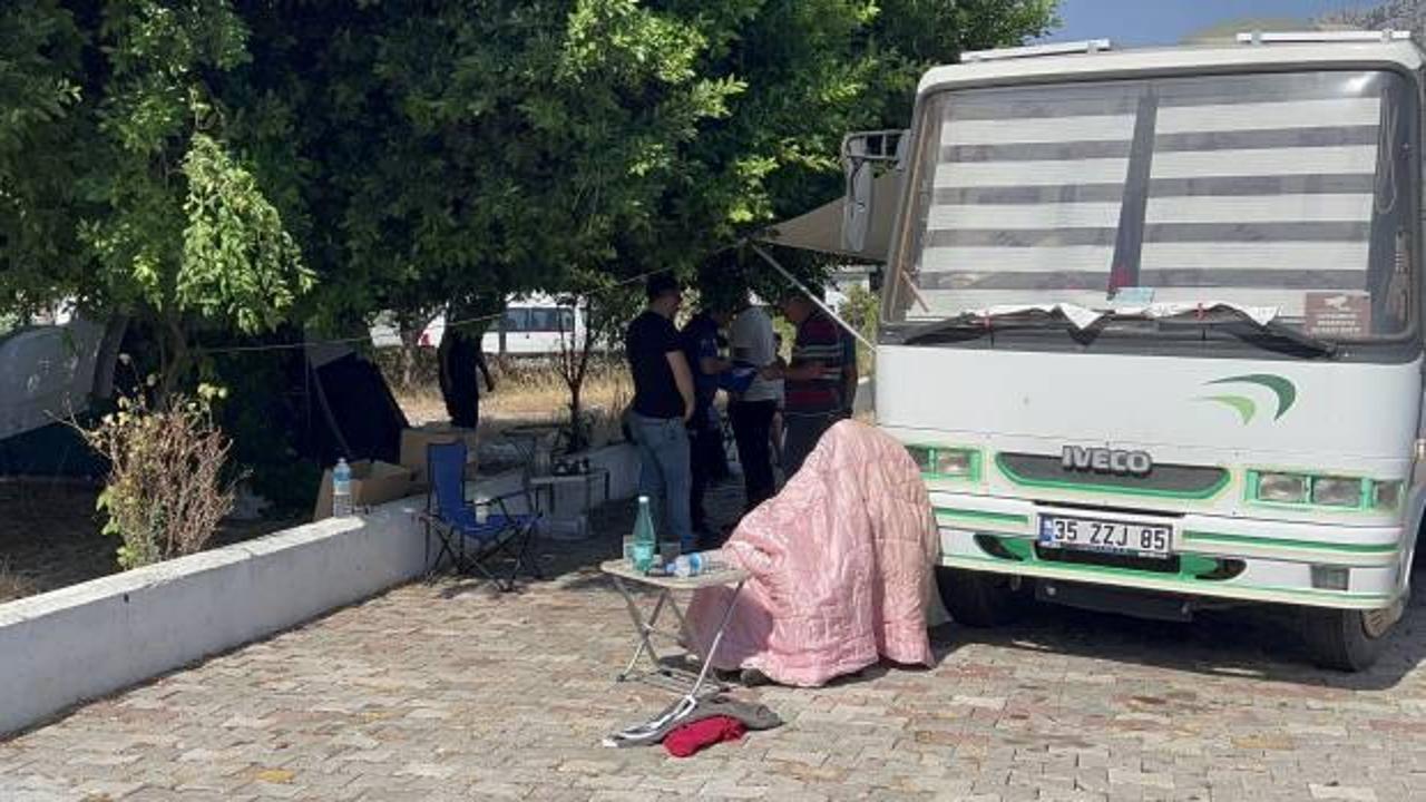
[[[807,455],[817,448],[821,434],[843,417],[843,361],[847,351],[841,341],[841,327],[817,308],[811,298],[793,291],[783,300],[783,315],[797,327],[791,364],[786,368],[774,365],[764,372],[786,382],[783,415],[787,420],[787,444],[783,469],[791,479]]]

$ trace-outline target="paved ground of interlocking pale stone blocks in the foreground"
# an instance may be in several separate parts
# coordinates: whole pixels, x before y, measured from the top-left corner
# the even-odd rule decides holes
[[[1040,608],[937,628],[930,669],[740,689],[787,725],[739,743],[607,749],[669,696],[612,682],[632,628],[593,567],[629,509],[596,524],[522,592],[406,585],[0,742],[0,799],[1426,801],[1420,597],[1363,675],[1282,612]]]

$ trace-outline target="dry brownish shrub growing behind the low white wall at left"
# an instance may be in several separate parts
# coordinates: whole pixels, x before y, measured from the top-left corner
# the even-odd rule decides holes
[[[84,431],[110,461],[97,508],[107,517],[104,534],[124,541],[123,568],[201,551],[232,511],[235,479],[224,478],[231,442],[211,414],[221,395],[202,385],[198,398],[174,395],[155,407],[140,390]]]

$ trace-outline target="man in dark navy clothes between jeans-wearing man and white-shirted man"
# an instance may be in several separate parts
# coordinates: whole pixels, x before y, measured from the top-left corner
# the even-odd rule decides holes
[[[712,298],[709,290],[700,293],[702,298]],[[717,477],[723,464],[723,427],[719,425],[717,408],[713,401],[717,398],[719,374],[733,367],[732,362],[719,355],[719,330],[729,323],[727,304],[716,300],[704,301],[699,314],[693,315],[683,327],[683,355],[693,368],[693,418],[689,421],[689,441],[693,462],[693,489],[689,495],[689,511],[693,518],[693,531],[703,545],[713,547],[707,514],[703,509],[703,495],[709,484]],[[726,469],[726,465],[723,465]]]

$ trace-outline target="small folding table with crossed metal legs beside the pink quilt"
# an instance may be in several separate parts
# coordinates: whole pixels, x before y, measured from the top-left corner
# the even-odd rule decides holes
[[[733,616],[733,606],[737,604],[737,597],[743,591],[743,584],[747,582],[747,572],[742,568],[723,568],[719,571],[710,571],[707,574],[699,574],[697,577],[646,577],[633,569],[627,559],[610,559],[599,567],[600,571],[607,574],[615,587],[619,588],[619,594],[623,597],[625,604],[629,608],[629,618],[633,619],[635,631],[639,636],[639,644],[635,648],[633,656],[629,659],[629,665],[616,678],[619,682],[627,679],[642,679],[652,685],[659,685],[683,694],[684,698],[697,699],[699,692],[707,684],[709,672],[713,668],[713,658],[717,655],[717,648],[723,642],[723,631],[727,628],[729,619]],[[647,588],[656,588],[659,591],[653,611],[647,618],[639,609],[639,602],[635,594],[630,592],[630,585],[645,585]],[[727,599],[727,606],[723,609],[719,618],[717,631],[713,634],[713,641],[709,644],[709,652],[706,655],[697,655],[702,664],[697,674],[692,671],[683,671],[670,665],[666,665],[660,658],[659,652],[653,646],[653,638],[669,638],[676,644],[684,646],[686,654],[692,654],[694,646],[692,635],[687,632],[687,619],[683,616],[683,609],[679,606],[674,592],[680,591],[696,591],[699,588],[709,588],[713,585],[732,585],[733,594]],[[672,611],[673,616],[679,622],[677,632],[670,632],[667,629],[659,628],[659,616],[665,609]],[[635,668],[639,665],[639,659],[646,656],[652,669],[636,672]],[[714,691],[726,689],[724,685],[714,682]]]

